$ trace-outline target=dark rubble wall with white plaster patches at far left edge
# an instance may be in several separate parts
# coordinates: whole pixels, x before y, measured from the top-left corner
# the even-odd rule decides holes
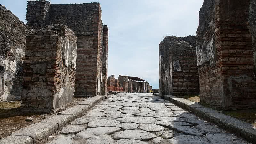
[[[33,30],[0,4],[0,101],[20,100],[26,36]]]

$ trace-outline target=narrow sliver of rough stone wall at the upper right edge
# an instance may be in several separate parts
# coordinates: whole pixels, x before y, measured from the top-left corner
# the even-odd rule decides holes
[[[256,1],[251,0],[249,7],[249,24],[250,24],[250,32],[252,35],[252,50],[254,56],[254,73],[256,73]]]

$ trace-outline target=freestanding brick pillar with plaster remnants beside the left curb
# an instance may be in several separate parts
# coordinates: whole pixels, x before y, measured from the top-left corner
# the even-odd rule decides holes
[[[77,37],[65,25],[27,36],[22,107],[52,111],[73,100]]]

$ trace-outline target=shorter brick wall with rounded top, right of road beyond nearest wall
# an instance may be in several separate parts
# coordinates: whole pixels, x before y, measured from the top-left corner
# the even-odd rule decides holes
[[[160,93],[196,95],[199,93],[196,66],[196,37],[167,36],[159,44]]]

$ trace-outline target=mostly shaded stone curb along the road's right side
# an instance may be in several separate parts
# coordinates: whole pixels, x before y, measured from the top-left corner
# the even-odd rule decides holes
[[[178,98],[172,95],[154,95],[160,96],[165,100],[169,100],[175,105],[191,111],[192,113],[203,118],[204,120],[218,125],[221,128],[227,130],[228,132],[235,133],[237,136],[256,144],[256,127],[249,123],[222,114],[219,111],[213,110],[212,108],[205,108],[204,106],[190,100]]]

